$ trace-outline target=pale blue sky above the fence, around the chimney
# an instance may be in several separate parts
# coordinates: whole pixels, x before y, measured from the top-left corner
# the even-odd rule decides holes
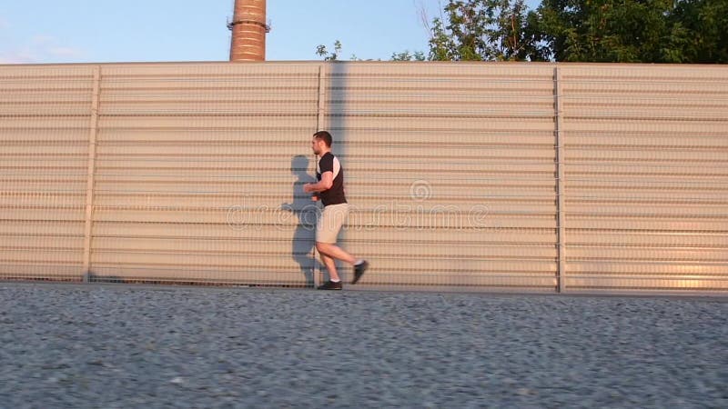
[[[227,61],[234,0],[3,0],[0,64]],[[387,60],[428,50],[431,20],[446,0],[268,0],[269,61]]]

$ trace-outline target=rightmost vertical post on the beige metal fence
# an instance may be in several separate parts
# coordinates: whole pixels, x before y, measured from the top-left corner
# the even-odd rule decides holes
[[[557,246],[557,280],[559,293],[563,293],[566,290],[565,279],[565,248],[564,240],[565,226],[564,226],[564,153],[563,153],[563,135],[561,131],[563,129],[563,87],[561,84],[561,70],[559,66],[553,68],[553,98],[554,98],[554,115],[555,115],[555,147],[556,147],[556,246]]]

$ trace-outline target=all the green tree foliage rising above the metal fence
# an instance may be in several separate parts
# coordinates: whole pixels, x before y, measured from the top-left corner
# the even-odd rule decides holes
[[[442,12],[428,55],[391,60],[728,64],[728,0],[448,0]],[[340,54],[339,41],[317,48]]]

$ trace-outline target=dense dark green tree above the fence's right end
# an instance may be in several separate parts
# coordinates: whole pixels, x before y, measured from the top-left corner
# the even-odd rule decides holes
[[[538,15],[556,61],[728,61],[728,0],[543,0]]]

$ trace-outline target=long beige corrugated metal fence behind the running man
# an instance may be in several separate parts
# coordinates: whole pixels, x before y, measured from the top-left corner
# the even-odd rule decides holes
[[[728,291],[726,66],[0,65],[0,90],[0,278],[314,284],[328,129],[361,287]]]

